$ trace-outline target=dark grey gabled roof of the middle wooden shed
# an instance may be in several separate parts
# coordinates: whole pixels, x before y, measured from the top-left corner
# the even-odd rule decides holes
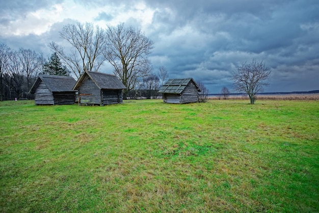
[[[77,80],[76,84],[74,85],[73,89],[77,90],[77,88],[82,84],[85,77],[89,75],[93,82],[99,89],[108,89],[108,90],[122,90],[126,89],[123,83],[117,78],[115,75],[106,74],[101,72],[92,72],[86,71],[83,73]]]

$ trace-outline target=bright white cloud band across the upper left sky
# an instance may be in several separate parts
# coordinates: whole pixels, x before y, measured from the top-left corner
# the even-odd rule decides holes
[[[129,8],[129,10],[127,10],[127,8]],[[96,20],[99,13],[112,14],[114,19],[111,21]],[[127,5],[122,4],[116,7],[104,5],[93,8],[67,1],[62,4],[30,11],[24,16],[12,18],[9,24],[0,25],[0,35],[41,35],[49,31],[54,23],[63,22],[66,19],[82,23],[93,22],[104,28],[107,23],[116,25],[119,22],[126,22],[130,18],[134,18],[141,23],[142,28],[146,29],[152,22],[153,13],[154,10],[147,8],[143,3],[136,4],[132,7],[127,7]]]

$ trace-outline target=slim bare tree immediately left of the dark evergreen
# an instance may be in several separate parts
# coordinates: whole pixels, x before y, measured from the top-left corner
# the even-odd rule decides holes
[[[41,70],[41,59],[35,51],[23,48],[19,49],[18,58],[26,76],[26,90],[29,91],[36,75]]]

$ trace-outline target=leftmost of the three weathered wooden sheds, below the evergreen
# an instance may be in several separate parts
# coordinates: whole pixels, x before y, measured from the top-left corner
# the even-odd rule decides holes
[[[73,104],[76,81],[70,76],[40,74],[30,89],[34,94],[35,104]]]

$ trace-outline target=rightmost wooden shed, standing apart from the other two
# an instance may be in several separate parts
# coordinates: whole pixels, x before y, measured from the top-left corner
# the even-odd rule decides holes
[[[199,87],[193,78],[169,79],[158,91],[166,103],[198,102]]]

